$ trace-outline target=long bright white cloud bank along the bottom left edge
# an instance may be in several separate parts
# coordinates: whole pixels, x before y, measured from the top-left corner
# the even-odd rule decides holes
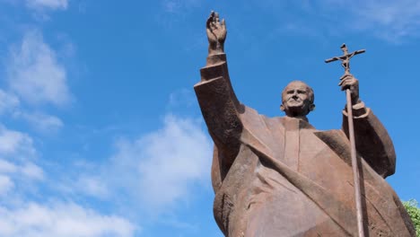
[[[100,215],[74,203],[19,208],[0,206],[0,236],[9,237],[128,237],[136,227],[116,215]]]

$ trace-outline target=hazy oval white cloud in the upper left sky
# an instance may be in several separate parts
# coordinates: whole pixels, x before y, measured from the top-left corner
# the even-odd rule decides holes
[[[22,44],[12,48],[7,72],[13,92],[30,104],[63,105],[71,99],[66,69],[57,62],[55,51],[39,31],[26,32]]]

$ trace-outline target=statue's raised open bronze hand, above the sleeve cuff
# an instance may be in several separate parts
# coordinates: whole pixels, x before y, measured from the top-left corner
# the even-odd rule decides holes
[[[206,31],[208,39],[208,54],[214,55],[223,53],[224,40],[226,40],[226,23],[224,19],[219,21],[219,13],[212,11],[206,22]]]

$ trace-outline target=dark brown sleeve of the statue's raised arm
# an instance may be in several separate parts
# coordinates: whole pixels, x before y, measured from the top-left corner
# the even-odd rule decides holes
[[[194,86],[194,90],[217,147],[219,162],[228,170],[241,146],[243,126],[240,113],[243,106],[233,92],[225,54],[207,57],[207,66],[200,73],[201,82]]]

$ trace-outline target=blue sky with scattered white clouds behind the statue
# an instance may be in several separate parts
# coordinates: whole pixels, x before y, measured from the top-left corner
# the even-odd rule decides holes
[[[366,48],[352,73],[397,151],[387,180],[420,200],[416,0],[0,0],[0,236],[222,236],[192,90],[211,10],[239,99],[282,116],[305,81],[319,129],[345,104],[324,59]]]

